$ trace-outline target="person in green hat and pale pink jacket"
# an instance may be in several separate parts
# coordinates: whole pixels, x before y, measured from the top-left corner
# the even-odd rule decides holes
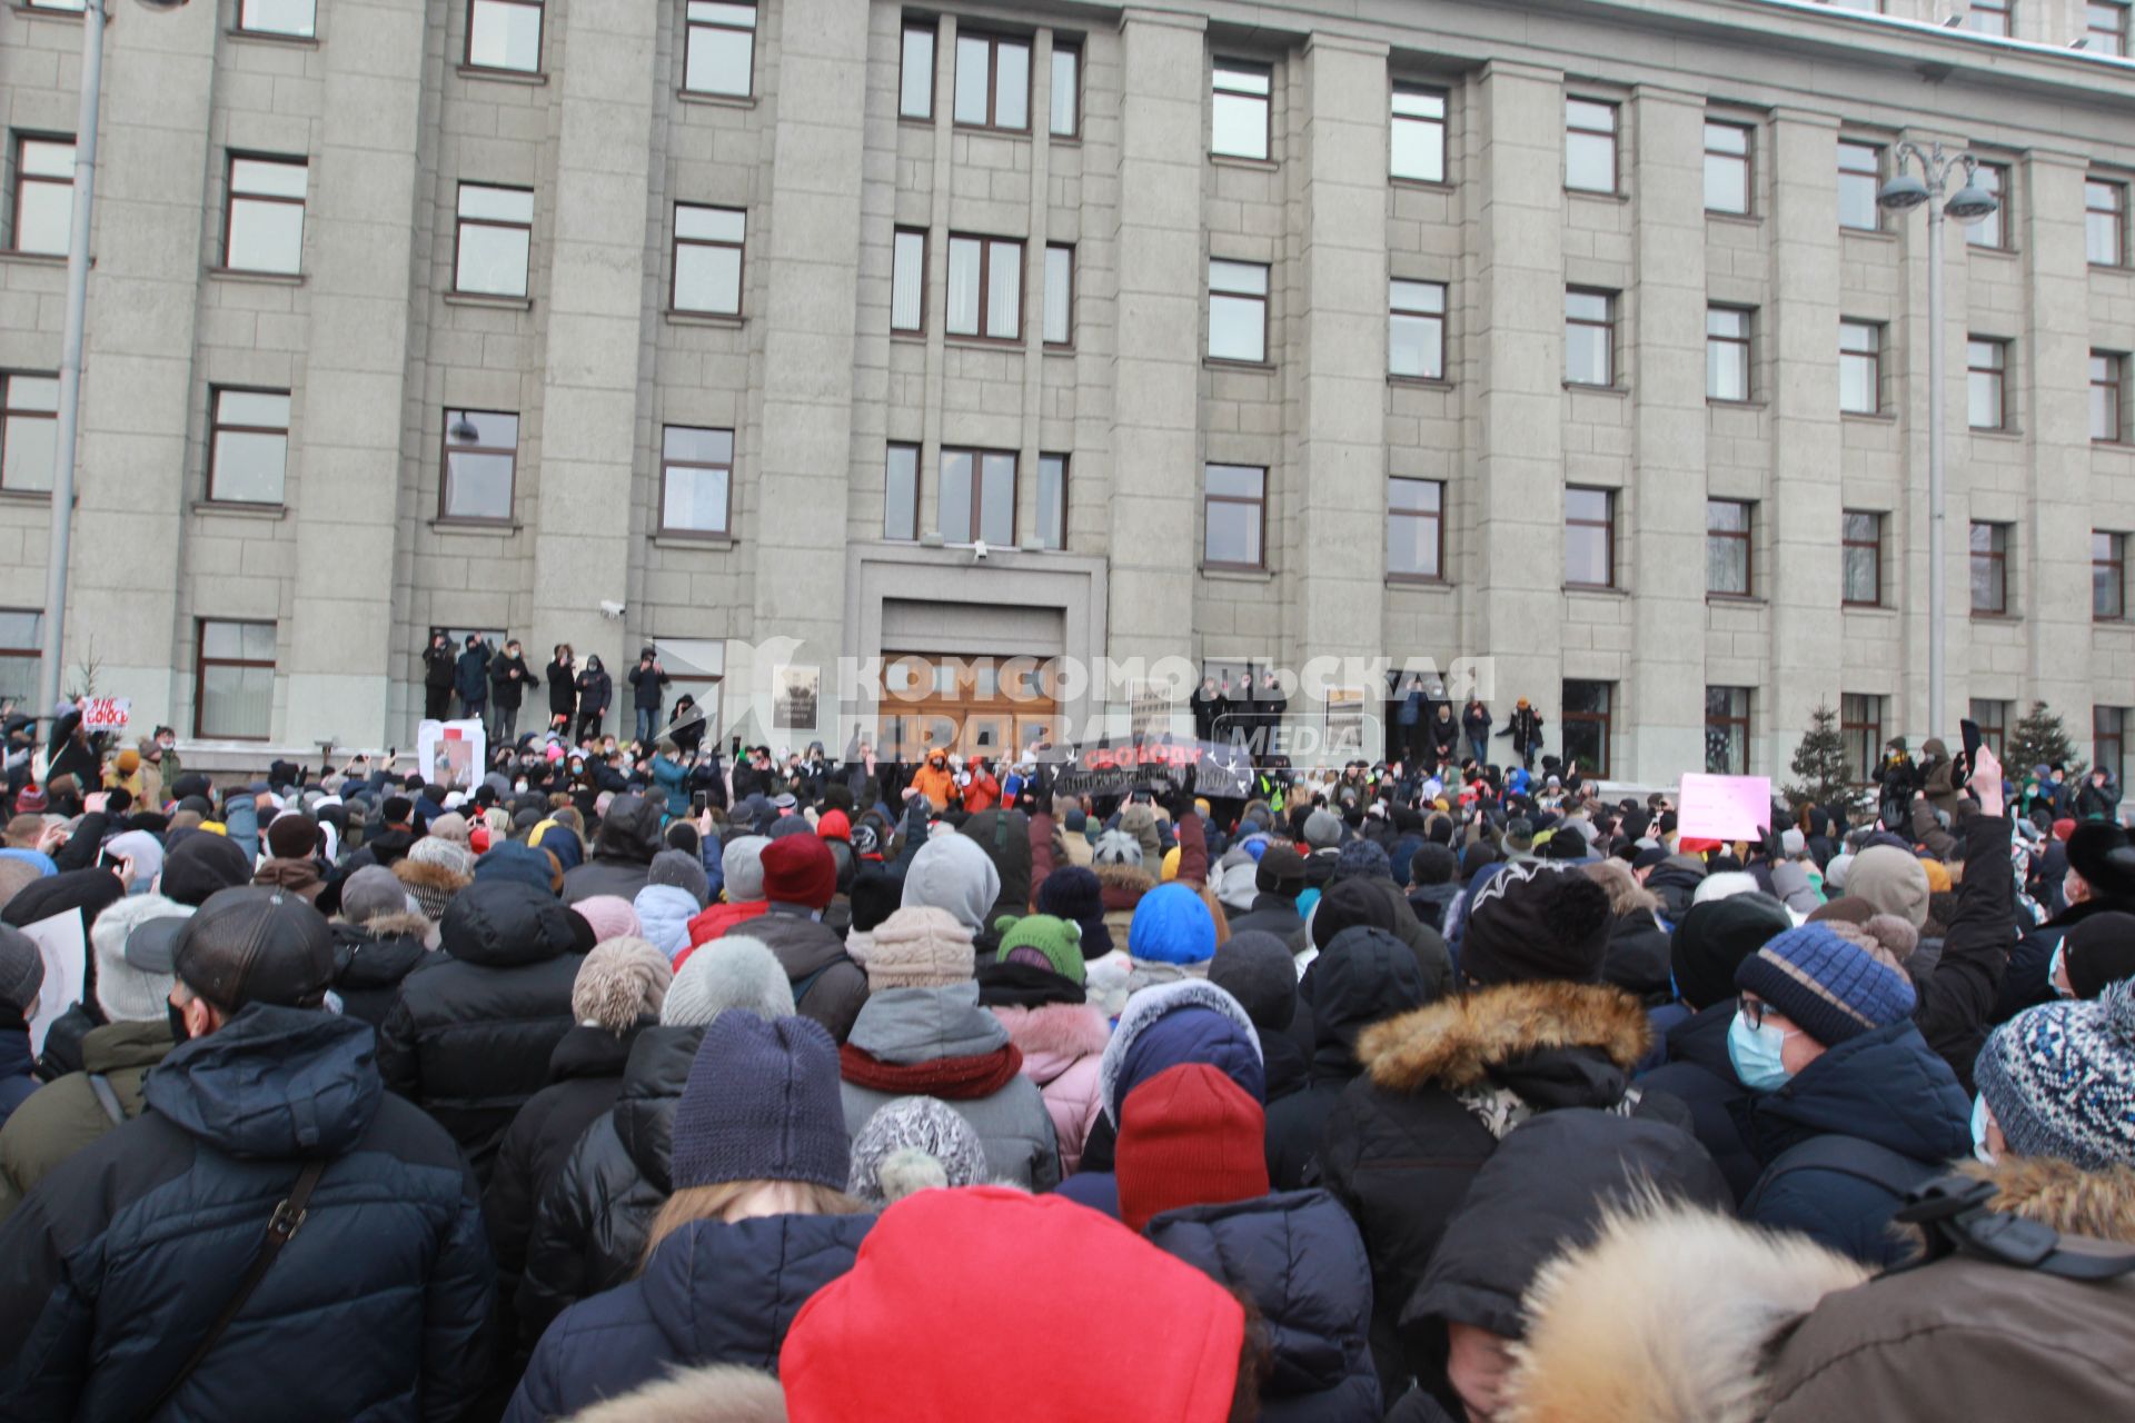
[[[995,958],[978,971],[978,1001],[1023,1054],[1053,1116],[1061,1173],[1074,1176],[1102,1112],[1097,1062],[1112,1037],[1104,1011],[1082,1001],[1080,934],[1068,920],[1025,915],[1003,928]]]

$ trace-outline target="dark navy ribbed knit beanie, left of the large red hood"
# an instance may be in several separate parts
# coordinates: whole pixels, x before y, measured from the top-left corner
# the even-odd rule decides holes
[[[713,1018],[675,1103],[675,1190],[747,1180],[843,1190],[850,1173],[831,1033],[807,1018]]]

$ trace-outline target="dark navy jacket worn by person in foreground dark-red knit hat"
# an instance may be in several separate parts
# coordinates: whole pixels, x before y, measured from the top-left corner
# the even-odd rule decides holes
[[[1260,1306],[1275,1344],[1275,1372],[1260,1385],[1266,1423],[1377,1423],[1379,1380],[1364,1342],[1371,1267],[1334,1197],[1292,1190],[1189,1205],[1153,1218],[1146,1235]]]

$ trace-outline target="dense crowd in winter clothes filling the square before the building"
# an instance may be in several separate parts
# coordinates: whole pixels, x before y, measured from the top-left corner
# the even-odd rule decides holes
[[[6,728],[0,1414],[2135,1417],[2118,787],[1695,841],[1475,702],[1089,798],[572,668],[431,646],[457,789]]]

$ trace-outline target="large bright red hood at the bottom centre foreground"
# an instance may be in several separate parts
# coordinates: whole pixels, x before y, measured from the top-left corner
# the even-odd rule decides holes
[[[1112,1318],[1132,1299],[1164,1327],[1110,1331],[1089,1368],[1050,1329],[1001,1329],[1033,1284],[1048,1318]],[[779,1378],[792,1423],[856,1410],[871,1423],[1221,1423],[1243,1342],[1245,1310],[1193,1265],[1065,1197],[965,1186],[882,1212],[852,1269],[801,1306]]]

